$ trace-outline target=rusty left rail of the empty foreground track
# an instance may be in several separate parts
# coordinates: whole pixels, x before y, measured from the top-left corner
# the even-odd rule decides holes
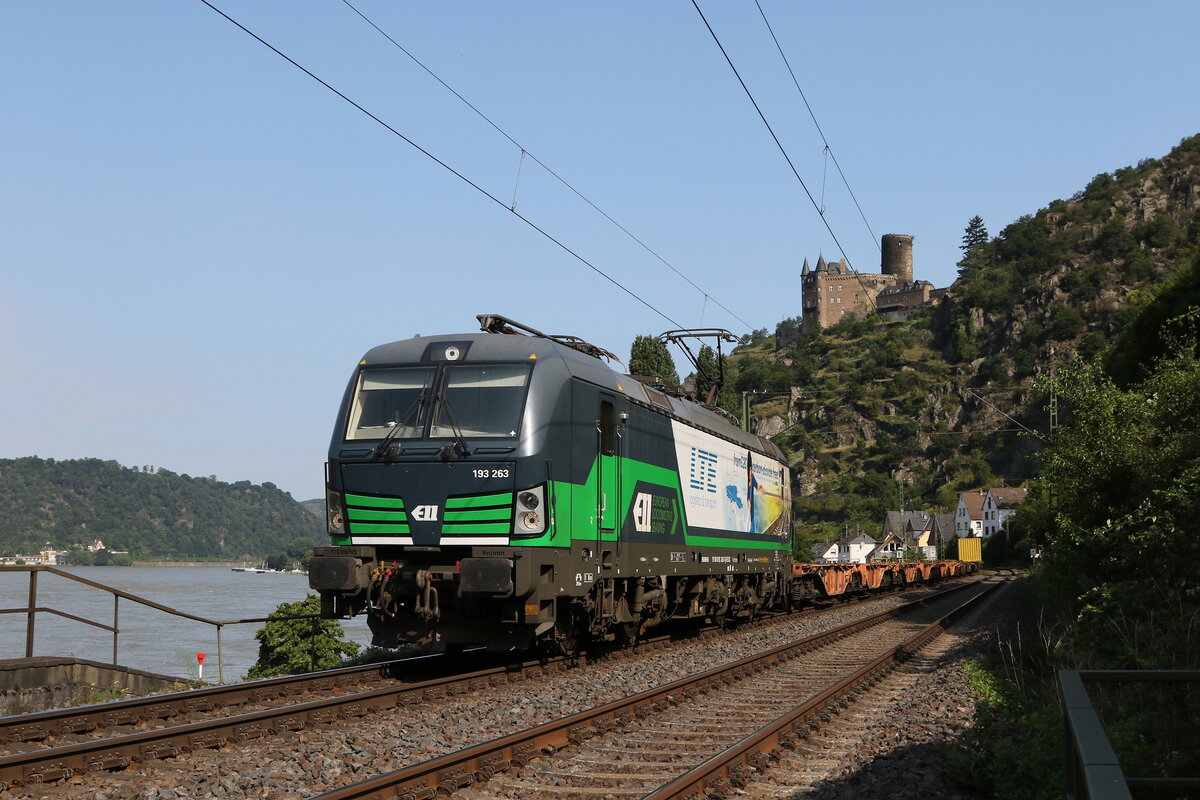
[[[497,772],[506,771],[514,766],[523,766],[538,753],[551,753],[569,745],[580,744],[625,722],[643,718],[653,711],[665,710],[676,704],[676,698],[692,698],[710,690],[731,685],[742,678],[762,672],[776,662],[827,646],[850,633],[874,627],[914,608],[928,606],[948,595],[962,591],[967,587],[977,585],[977,583],[962,583],[890,610],[772,648],[740,661],[713,667],[580,714],[314,795],[312,800],[388,800],[394,798],[431,800],[439,792],[454,793],[476,781],[490,780]]]

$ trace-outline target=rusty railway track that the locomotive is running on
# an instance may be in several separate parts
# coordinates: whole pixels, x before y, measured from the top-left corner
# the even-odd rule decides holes
[[[600,660],[671,644],[671,637],[661,637],[632,654],[608,652]],[[569,668],[571,661],[503,663],[469,672],[463,672],[464,664],[425,657],[4,718],[0,742],[6,744],[0,746],[10,752],[0,756],[0,790],[466,697],[488,686],[541,678]],[[438,672],[443,674],[425,678]]]

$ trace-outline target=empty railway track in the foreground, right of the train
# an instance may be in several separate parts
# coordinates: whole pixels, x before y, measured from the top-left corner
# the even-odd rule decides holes
[[[472,800],[724,796],[998,585],[956,587],[319,800],[426,800],[457,792]],[[958,602],[960,590],[967,590],[965,602]],[[763,726],[766,718],[773,721]]]

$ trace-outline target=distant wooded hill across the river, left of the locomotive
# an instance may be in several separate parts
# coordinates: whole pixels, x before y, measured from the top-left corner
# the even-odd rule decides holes
[[[325,539],[274,483],[143,471],[95,458],[0,459],[0,553],[101,540],[133,558],[263,558]],[[301,548],[302,549],[302,548]]]

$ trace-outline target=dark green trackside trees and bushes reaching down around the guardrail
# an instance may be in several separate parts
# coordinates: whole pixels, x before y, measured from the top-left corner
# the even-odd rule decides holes
[[[994,537],[1040,548],[1038,628],[976,664],[995,691],[960,756],[992,796],[1049,800],[1062,796],[1045,780],[1061,760],[1028,745],[1062,741],[1057,669],[1200,668],[1200,247],[1114,347],[1040,380],[1064,423],[1038,491]],[[1129,682],[1092,697],[1127,776],[1200,771],[1200,687]]]

